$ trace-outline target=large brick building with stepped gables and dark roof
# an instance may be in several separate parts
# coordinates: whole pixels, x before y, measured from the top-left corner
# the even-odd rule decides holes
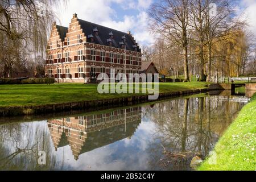
[[[125,56],[126,55],[126,56]],[[69,27],[53,22],[48,40],[46,75],[59,82],[90,82],[100,73],[141,72],[141,49],[127,34],[86,22],[74,14]]]

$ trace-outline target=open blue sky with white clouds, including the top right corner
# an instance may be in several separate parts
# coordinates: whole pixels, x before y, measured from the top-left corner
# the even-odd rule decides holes
[[[57,22],[68,27],[76,13],[89,22],[131,31],[139,44],[149,46],[154,43],[154,36],[148,31],[147,9],[154,1],[158,0],[70,0],[68,5],[57,7]],[[243,12],[241,17],[248,19],[250,30],[256,35],[256,0],[238,1],[237,11]]]

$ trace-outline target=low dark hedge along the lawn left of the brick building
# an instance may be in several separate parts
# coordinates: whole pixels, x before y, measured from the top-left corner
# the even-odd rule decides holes
[[[27,78],[24,80],[0,78],[0,85],[11,84],[54,84],[54,78]]]

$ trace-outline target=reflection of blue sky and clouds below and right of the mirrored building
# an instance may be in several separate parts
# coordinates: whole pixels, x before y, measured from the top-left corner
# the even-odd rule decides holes
[[[148,137],[154,130],[155,123],[142,122],[131,139],[123,139],[73,158],[71,148],[58,148],[57,159],[64,158],[65,170],[137,170],[148,169],[148,144],[153,138]]]

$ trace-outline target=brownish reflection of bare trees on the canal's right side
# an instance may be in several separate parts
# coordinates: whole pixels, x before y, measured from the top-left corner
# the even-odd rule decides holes
[[[154,136],[155,140],[159,140],[159,143],[155,142],[150,148],[154,156],[150,162],[152,168],[163,163],[163,156],[161,158],[159,154],[164,149],[170,151],[169,156],[178,159],[174,163],[168,161],[168,169],[189,169],[190,162],[184,159],[209,154],[243,106],[238,102],[220,102],[218,98],[187,98],[162,102],[156,104],[154,109],[147,110],[145,117],[157,124]],[[180,158],[183,155],[186,158]],[[162,167],[166,167],[165,164]]]

